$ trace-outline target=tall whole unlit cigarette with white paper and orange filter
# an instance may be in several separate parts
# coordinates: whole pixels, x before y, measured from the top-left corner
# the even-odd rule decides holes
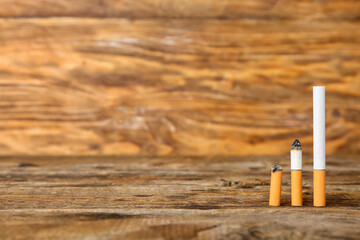
[[[313,87],[314,206],[324,207],[325,197],[325,86]]]

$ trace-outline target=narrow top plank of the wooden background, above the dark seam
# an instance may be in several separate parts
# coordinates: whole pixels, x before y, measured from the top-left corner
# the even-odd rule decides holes
[[[357,0],[2,0],[1,17],[359,20]]]

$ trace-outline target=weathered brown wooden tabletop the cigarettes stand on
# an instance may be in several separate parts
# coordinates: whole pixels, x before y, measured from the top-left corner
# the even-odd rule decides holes
[[[270,167],[284,167],[269,207]],[[327,159],[327,204],[290,206],[289,157],[2,157],[0,239],[359,239],[360,157]]]

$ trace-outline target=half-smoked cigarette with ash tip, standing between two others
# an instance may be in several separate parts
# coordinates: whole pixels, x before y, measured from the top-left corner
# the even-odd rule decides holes
[[[291,146],[291,206],[302,206],[302,150],[299,140]]]

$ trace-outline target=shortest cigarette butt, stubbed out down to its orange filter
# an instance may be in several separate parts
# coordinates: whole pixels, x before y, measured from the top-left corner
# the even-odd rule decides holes
[[[281,202],[281,184],[282,184],[282,168],[279,165],[274,165],[271,168],[270,180],[270,206],[280,206]]]

